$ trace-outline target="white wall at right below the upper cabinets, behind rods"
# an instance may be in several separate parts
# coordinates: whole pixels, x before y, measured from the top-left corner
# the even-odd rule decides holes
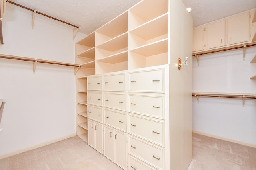
[[[193,92],[254,93],[256,63],[250,63],[256,47],[193,57]],[[193,98],[193,130],[210,136],[256,146],[256,100]]]

